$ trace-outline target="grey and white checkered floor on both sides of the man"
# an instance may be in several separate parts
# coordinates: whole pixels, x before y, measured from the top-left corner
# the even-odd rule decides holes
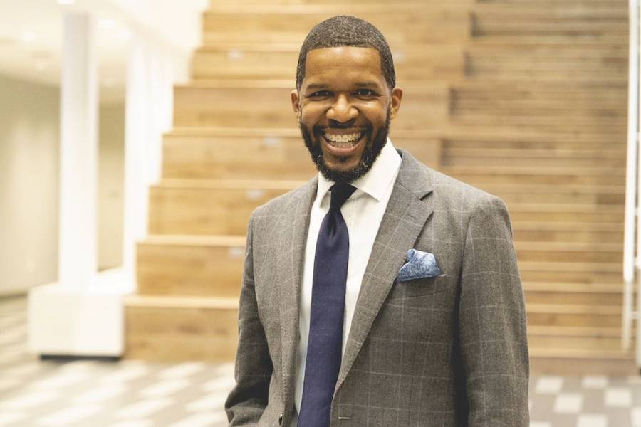
[[[231,364],[51,362],[26,300],[0,299],[0,427],[222,427]],[[532,376],[531,427],[641,427],[641,377]]]

